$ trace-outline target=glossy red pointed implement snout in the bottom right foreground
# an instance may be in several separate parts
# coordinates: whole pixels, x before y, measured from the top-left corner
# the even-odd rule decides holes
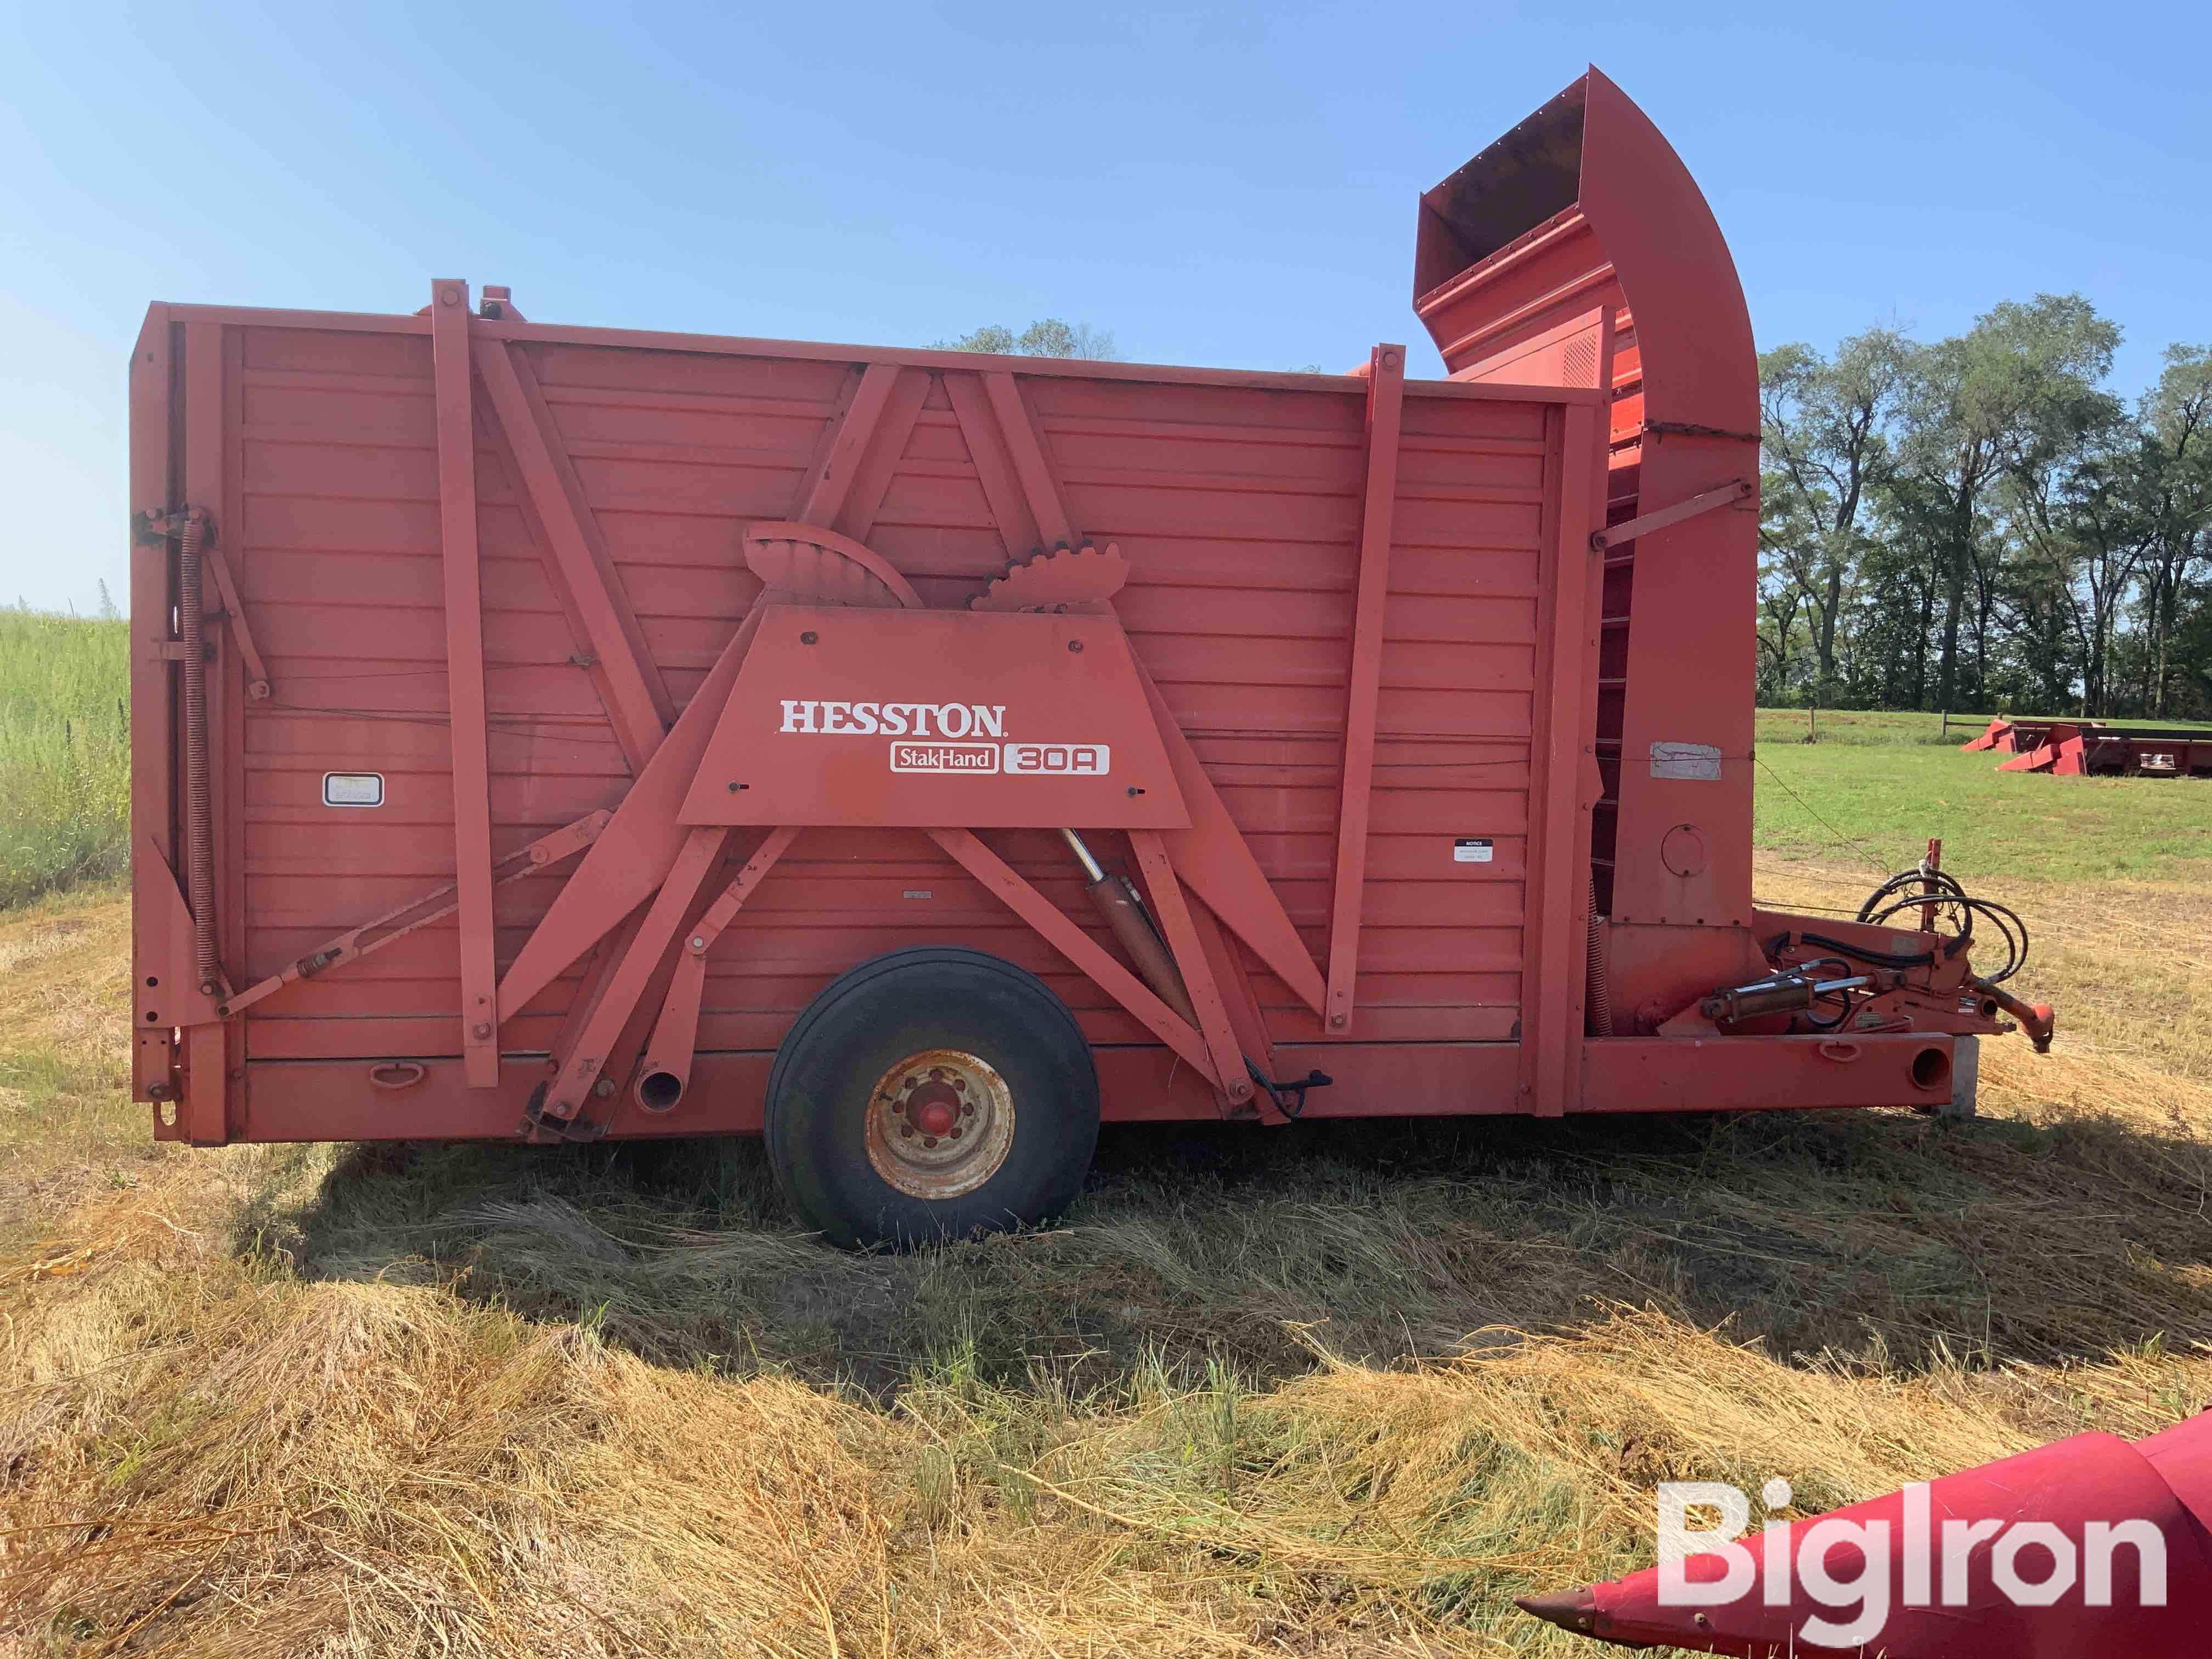
[[[2212,1413],[2132,1444],[2059,1440],[1739,1551],[1681,1564],[1708,1586],[1703,1604],[1661,1604],[1646,1568],[1522,1608],[1624,1648],[1743,1659],[2199,1659],[2212,1646]],[[1741,1593],[1710,1599],[1721,1586]]]

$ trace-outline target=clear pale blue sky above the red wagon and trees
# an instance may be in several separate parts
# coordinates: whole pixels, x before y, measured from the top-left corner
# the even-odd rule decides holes
[[[124,595],[146,303],[1121,356],[1411,341],[1420,190],[1595,62],[1759,345],[2088,294],[2115,383],[2212,336],[2199,4],[97,7],[0,0],[0,604]]]

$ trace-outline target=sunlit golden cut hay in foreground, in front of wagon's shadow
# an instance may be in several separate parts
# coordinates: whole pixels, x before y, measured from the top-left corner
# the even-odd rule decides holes
[[[1449,1363],[1113,1394],[958,1365],[889,1409],[655,1367],[425,1285],[153,1228],[20,1285],[0,1630],[128,1652],[1484,1652],[1626,1571],[1657,1480],[1798,1511],[2088,1425],[2201,1354],[1867,1378],[1617,1307]],[[1535,1637],[1537,1632],[1526,1632]],[[1542,1650],[1548,1639],[1537,1639]]]

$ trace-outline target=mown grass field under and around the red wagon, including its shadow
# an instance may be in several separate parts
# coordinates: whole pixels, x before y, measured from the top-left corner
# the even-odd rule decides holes
[[[1792,721],[1761,896],[1942,834],[2035,927],[2059,1046],[1978,1124],[1128,1128],[1055,1230],[841,1256],[745,1141],[155,1148],[124,907],[0,916],[0,1650],[1566,1659],[1511,1597],[1646,1562],[1657,1480],[2170,1425],[2212,794]]]

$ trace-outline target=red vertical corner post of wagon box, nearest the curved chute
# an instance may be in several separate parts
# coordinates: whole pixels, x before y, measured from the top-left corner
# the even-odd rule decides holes
[[[1597,741],[1588,593],[1604,571],[1604,553],[1590,549],[1590,531],[1604,518],[1597,422],[1599,411],[1588,403],[1571,403],[1546,422],[1544,500],[1557,513],[1544,535],[1537,608],[1520,1046],[1522,1106],[1537,1117],[1559,1117],[1582,1095],[1590,860],[1584,759]]]

